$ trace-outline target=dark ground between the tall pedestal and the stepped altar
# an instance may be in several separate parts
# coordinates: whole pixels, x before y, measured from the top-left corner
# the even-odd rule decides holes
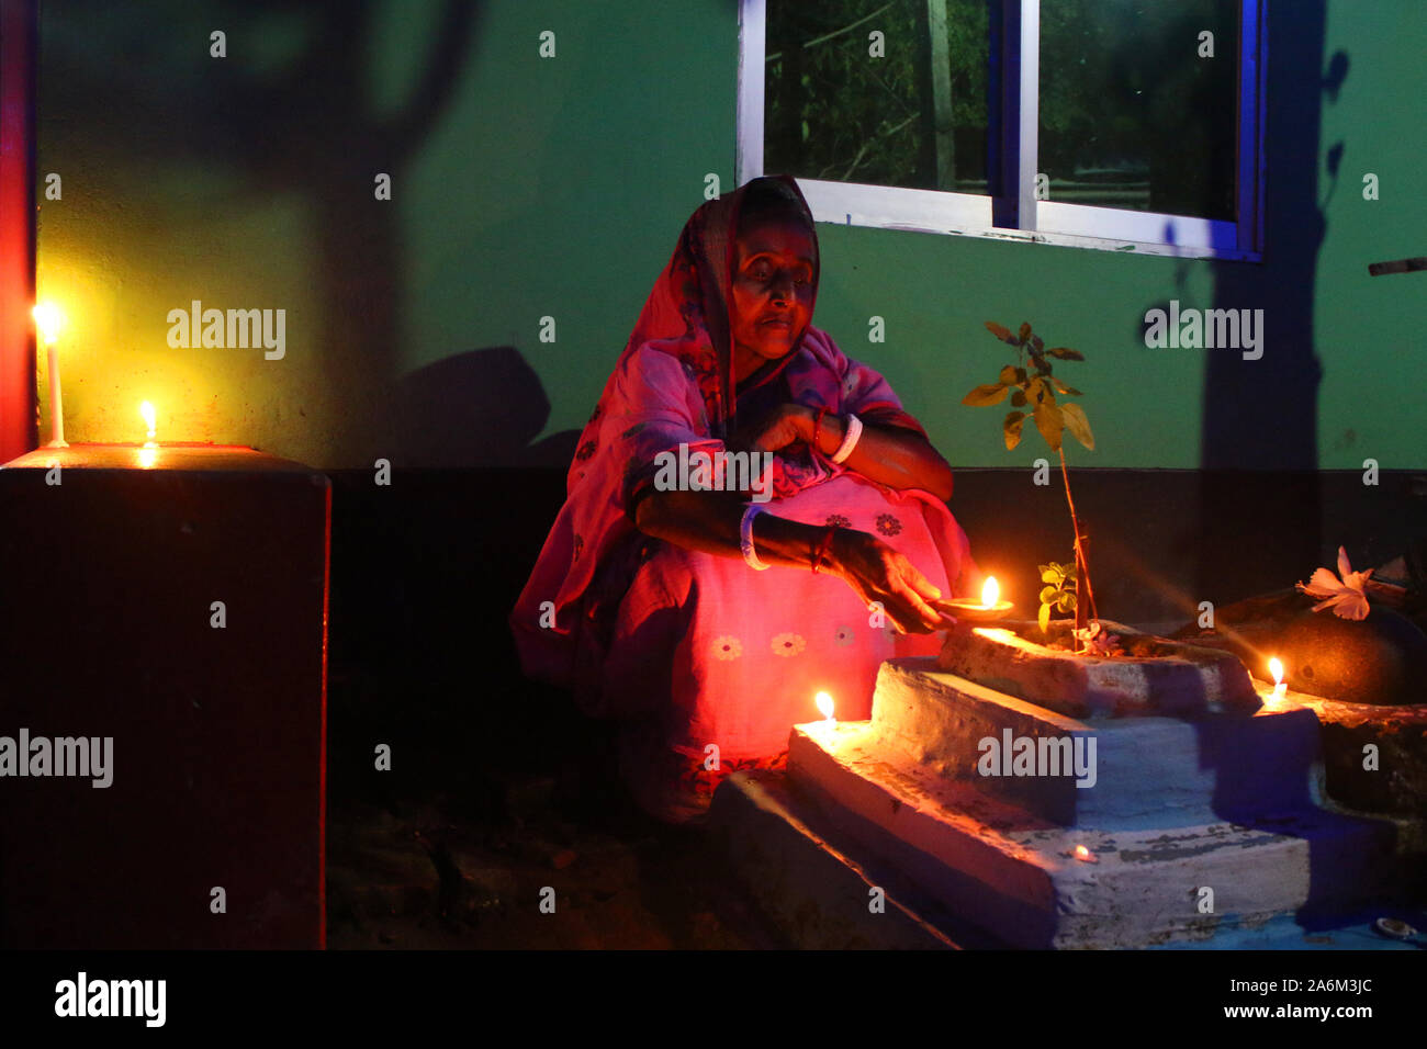
[[[402,718],[410,739],[394,745],[391,772],[334,771],[328,948],[783,946],[702,831],[632,805],[605,726],[538,686],[524,699],[535,716],[489,734],[452,719],[445,735],[414,735],[417,718]],[[357,725],[342,735],[364,735]],[[541,911],[545,886],[554,913]]]

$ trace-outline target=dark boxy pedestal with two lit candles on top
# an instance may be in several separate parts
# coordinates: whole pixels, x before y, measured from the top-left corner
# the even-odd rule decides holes
[[[330,525],[251,448],[0,468],[0,736],[113,738],[107,788],[0,775],[0,946],[324,945]]]

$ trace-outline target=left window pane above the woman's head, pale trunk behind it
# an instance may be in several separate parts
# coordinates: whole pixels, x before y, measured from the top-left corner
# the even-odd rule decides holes
[[[763,170],[985,194],[987,7],[768,0]]]

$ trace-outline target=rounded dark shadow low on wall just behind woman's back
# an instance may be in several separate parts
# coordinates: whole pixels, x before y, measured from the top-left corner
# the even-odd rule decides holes
[[[445,357],[397,387],[394,428],[401,460],[417,467],[558,467],[575,457],[578,430],[535,437],[549,398],[514,347]]]

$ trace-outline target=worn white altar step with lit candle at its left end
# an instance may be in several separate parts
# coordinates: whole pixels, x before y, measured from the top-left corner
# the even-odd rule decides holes
[[[938,906],[1010,946],[1150,946],[1341,912],[1376,893],[1391,849],[1390,828],[1316,806],[1250,824],[1065,826],[938,775],[882,744],[869,722],[836,735],[828,746],[793,731],[795,789],[839,841],[885,858]]]

